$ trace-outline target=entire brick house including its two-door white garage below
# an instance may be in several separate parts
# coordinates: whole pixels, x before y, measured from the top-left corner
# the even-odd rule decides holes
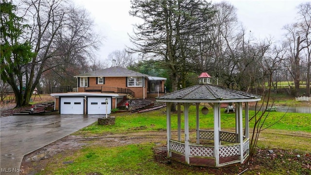
[[[165,93],[166,78],[111,67],[74,76],[76,87],[55,88],[55,109],[61,114],[110,114],[126,98],[154,98]],[[66,89],[64,91],[64,88]],[[59,93],[66,92],[66,93]]]

